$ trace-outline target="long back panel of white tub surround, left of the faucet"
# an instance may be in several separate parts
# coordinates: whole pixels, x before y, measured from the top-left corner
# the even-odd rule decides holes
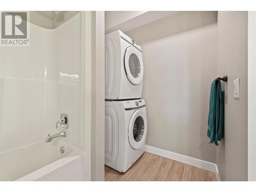
[[[57,82],[52,32],[30,24],[30,40],[29,47],[0,47],[0,152],[56,131],[47,113],[54,108],[51,87]]]

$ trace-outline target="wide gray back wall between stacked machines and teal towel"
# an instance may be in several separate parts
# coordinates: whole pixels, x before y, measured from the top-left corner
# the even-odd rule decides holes
[[[217,12],[183,11],[125,33],[143,49],[146,144],[215,163],[206,134]]]

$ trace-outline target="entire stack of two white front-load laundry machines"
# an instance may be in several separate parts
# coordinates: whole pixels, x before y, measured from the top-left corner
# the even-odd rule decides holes
[[[141,47],[120,30],[105,35],[105,165],[119,172],[144,153],[142,80]]]

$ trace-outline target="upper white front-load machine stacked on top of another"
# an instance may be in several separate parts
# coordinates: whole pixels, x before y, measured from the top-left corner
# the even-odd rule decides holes
[[[141,98],[141,47],[120,30],[105,35],[105,99]]]

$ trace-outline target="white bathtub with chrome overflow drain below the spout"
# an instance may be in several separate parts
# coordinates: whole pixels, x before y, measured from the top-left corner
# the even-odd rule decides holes
[[[85,163],[78,148],[58,139],[41,141],[0,153],[0,181],[84,181]]]

